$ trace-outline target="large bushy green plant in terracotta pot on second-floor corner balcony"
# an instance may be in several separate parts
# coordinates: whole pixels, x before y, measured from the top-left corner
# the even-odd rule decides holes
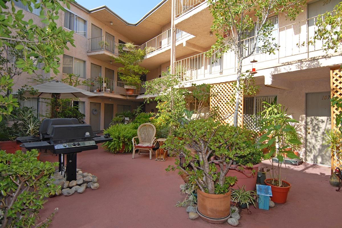
[[[127,94],[133,94],[137,86],[140,86],[140,76],[148,73],[148,70],[139,66],[144,59],[145,50],[132,49],[132,43],[124,44],[129,52],[121,52],[119,57],[113,57],[115,63],[122,66],[118,68],[119,78],[124,82]],[[134,47],[134,45],[133,45]]]

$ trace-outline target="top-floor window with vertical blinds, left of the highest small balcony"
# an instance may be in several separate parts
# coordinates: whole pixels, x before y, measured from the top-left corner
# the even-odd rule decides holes
[[[87,37],[87,21],[68,10],[64,12],[64,27]]]

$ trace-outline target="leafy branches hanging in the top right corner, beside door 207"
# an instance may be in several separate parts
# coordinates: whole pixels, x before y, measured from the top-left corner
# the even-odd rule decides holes
[[[338,52],[338,48],[342,43],[342,2],[337,4],[333,13],[326,12],[317,17],[315,24],[314,40],[323,40],[323,46],[326,51],[333,49]]]

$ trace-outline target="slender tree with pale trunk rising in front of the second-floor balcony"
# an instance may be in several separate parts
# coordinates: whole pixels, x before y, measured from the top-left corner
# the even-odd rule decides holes
[[[273,42],[273,23],[268,19],[269,16],[284,13],[287,18],[293,20],[302,12],[301,6],[305,4],[305,0],[209,0],[208,2],[214,18],[211,29],[216,31],[217,40],[207,56],[216,54],[222,57],[225,52],[231,50],[237,58],[234,111],[234,126],[237,126],[241,92],[253,94],[256,91],[249,71],[242,73],[242,61],[254,53],[257,45],[261,52],[274,53],[278,45]],[[254,32],[254,36],[246,42],[245,39],[249,38],[250,32]],[[227,34],[227,37],[224,37],[224,34]],[[246,50],[249,51],[246,53]]]

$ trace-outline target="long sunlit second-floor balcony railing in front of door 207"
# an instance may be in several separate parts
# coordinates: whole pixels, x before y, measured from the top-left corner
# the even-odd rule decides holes
[[[254,53],[244,59],[242,70],[251,69],[250,61],[253,59],[258,61],[257,68],[258,66],[267,68],[289,61],[325,55],[323,47],[325,41],[314,40],[316,21],[317,17],[313,17],[274,29],[272,38],[274,38],[273,42],[279,45],[279,50],[276,50],[274,54],[261,53],[259,47],[262,46],[262,42],[258,42]],[[254,39],[255,37],[250,37],[241,41],[246,47],[244,55],[250,53]],[[175,69],[181,81],[192,81],[220,75],[233,75],[237,69],[236,62],[235,53],[232,51],[225,53],[220,59],[215,54],[207,57],[206,53],[201,53],[176,61]]]

